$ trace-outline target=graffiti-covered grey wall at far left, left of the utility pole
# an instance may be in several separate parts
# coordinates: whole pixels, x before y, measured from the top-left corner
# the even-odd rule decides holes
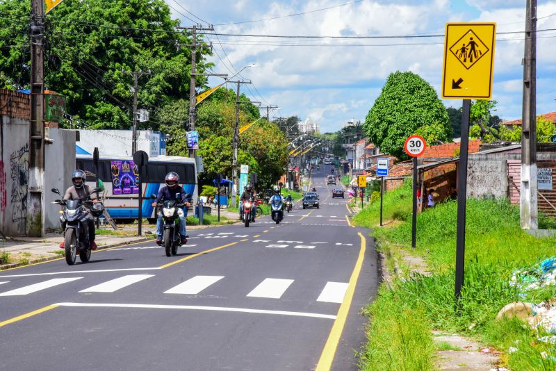
[[[29,170],[29,120],[0,115],[0,231],[25,233]]]

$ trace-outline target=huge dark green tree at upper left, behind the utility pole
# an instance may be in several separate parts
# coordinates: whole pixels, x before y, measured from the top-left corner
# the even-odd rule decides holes
[[[9,19],[0,31],[0,47],[28,44],[30,3],[0,1],[0,15]],[[46,88],[67,97],[67,111],[95,128],[129,128],[133,78],[122,71],[149,72],[139,80],[138,107],[152,113],[189,95],[191,53],[186,45],[192,40],[177,26],[163,0],[65,0],[45,17],[45,55],[61,60],[59,69],[47,63]],[[211,66],[204,61],[209,49],[198,53],[197,72],[204,72]],[[28,50],[0,48],[0,65],[1,86],[28,86]],[[199,76],[197,85],[205,83]]]

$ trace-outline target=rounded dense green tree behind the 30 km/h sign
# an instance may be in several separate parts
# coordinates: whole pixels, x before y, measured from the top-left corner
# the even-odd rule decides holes
[[[395,72],[370,108],[363,129],[381,151],[401,159],[407,158],[407,137],[425,125],[439,129],[438,140],[451,138],[448,113],[432,86],[412,72]]]

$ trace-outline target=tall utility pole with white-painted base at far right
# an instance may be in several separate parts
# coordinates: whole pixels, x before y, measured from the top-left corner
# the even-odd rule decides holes
[[[537,0],[527,0],[521,125],[521,228],[537,229]]]

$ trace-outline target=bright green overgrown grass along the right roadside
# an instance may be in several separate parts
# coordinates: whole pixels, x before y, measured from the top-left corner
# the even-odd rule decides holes
[[[512,370],[554,370],[556,349],[535,341],[547,335],[518,320],[496,321],[511,302],[538,304],[556,297],[556,286],[519,292],[512,272],[556,254],[556,238],[534,238],[519,226],[519,209],[505,200],[469,199],[466,224],[466,276],[459,306],[454,299],[457,202],[437,204],[418,215],[417,248],[411,249],[411,185],[384,195],[385,227],[380,229],[379,202],[354,217],[373,229],[378,248],[393,267],[402,250],[421,256],[430,267],[425,277],[413,274],[384,284],[370,315],[362,370],[432,370],[432,330],[450,331],[479,340],[502,352]],[[555,220],[541,217],[541,228]],[[455,312],[457,309],[457,313]],[[377,366],[380,365],[380,366]]]

